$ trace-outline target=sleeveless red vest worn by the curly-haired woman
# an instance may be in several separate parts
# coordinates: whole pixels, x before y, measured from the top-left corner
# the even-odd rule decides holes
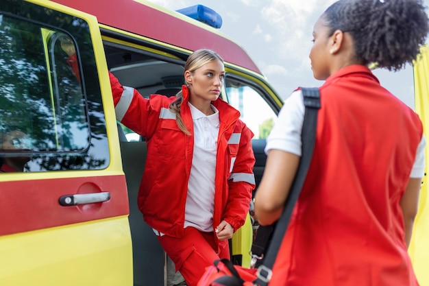
[[[320,93],[315,152],[269,285],[418,285],[400,200],[419,117],[360,65]]]

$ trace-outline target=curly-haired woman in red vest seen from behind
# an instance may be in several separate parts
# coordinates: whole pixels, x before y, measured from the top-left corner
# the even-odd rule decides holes
[[[423,127],[368,66],[401,69],[427,34],[419,0],[340,0],[315,23],[310,60],[325,80],[315,151],[269,285],[418,285],[407,247],[424,176]],[[255,200],[262,225],[282,213],[303,117],[298,89],[267,140]]]

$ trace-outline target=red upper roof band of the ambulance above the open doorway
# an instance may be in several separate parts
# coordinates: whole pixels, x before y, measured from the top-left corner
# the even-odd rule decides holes
[[[160,40],[191,51],[212,49],[232,64],[260,73],[245,50],[217,29],[160,8],[147,1],[134,0],[53,0],[97,16],[99,23]]]

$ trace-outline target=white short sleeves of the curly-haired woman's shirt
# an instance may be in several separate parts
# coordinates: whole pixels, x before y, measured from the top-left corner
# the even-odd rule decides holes
[[[305,106],[302,91],[294,91],[284,102],[282,110],[280,110],[278,115],[278,123],[275,124],[267,138],[267,145],[265,146],[266,154],[268,154],[269,150],[275,149],[301,156],[301,130],[304,122],[304,111]],[[417,155],[410,178],[422,178],[424,176],[425,145],[426,139],[422,136],[417,147]]]

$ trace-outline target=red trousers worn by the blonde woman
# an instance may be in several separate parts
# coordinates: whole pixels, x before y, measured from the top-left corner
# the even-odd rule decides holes
[[[181,238],[162,235],[158,236],[158,240],[188,286],[196,286],[206,267],[213,265],[213,261],[230,259],[228,241],[220,241],[218,248],[215,233],[203,233],[193,227],[185,228]]]

